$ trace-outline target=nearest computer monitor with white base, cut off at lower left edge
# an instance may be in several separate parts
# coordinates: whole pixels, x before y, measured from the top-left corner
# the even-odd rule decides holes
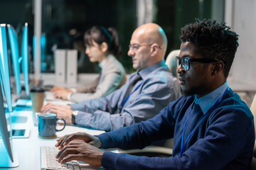
[[[11,113],[5,112],[3,91],[0,90],[0,168],[14,168],[19,165],[18,154],[14,153],[11,137]]]

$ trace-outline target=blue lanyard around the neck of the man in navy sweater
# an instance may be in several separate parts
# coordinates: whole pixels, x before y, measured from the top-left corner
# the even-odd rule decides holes
[[[203,115],[203,118],[205,118],[206,115],[208,115],[208,113],[211,113],[211,112],[217,107],[218,103],[220,103],[221,99],[222,99],[223,96],[229,91],[229,89],[230,89],[230,88],[228,87],[228,88],[225,90],[225,92],[223,93],[223,95],[220,96],[220,98],[218,98],[218,100],[217,100],[217,101],[215,102],[215,104],[207,111],[207,113],[206,113],[205,115]],[[189,117],[190,114],[191,114],[191,111],[190,111],[190,113],[188,113],[188,117]],[[196,127],[193,128],[192,132],[188,135],[188,138],[186,139],[186,142],[183,144],[183,137],[184,137],[184,132],[185,132],[185,128],[186,128],[186,123],[187,123],[187,121],[188,121],[188,117],[186,118],[186,122],[185,122],[185,125],[184,125],[184,128],[183,128],[183,131],[182,131],[182,137],[181,137],[181,154],[183,154],[184,149],[185,149],[185,146],[186,146],[186,143],[188,142],[188,139],[191,137],[193,131],[196,129]],[[203,118],[201,118],[201,120],[203,120]],[[201,123],[201,120],[199,120],[198,124]],[[198,124],[197,124],[197,125],[198,125]],[[196,126],[197,126],[197,125],[196,125]],[[181,156],[181,154],[180,154],[180,156]]]

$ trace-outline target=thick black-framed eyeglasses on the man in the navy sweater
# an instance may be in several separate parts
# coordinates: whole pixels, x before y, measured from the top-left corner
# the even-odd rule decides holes
[[[202,62],[202,63],[210,63],[210,62],[217,62],[218,59],[211,59],[211,58],[198,58],[198,59],[191,59],[189,57],[176,57],[176,67],[178,67],[181,64],[181,68],[184,71],[188,71],[190,68],[191,62]]]

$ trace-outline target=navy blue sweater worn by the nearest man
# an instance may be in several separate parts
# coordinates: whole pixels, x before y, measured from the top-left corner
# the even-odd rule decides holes
[[[142,149],[156,140],[174,137],[173,156],[137,157],[105,152],[102,166],[110,169],[248,169],[255,142],[253,115],[230,89],[217,108],[203,117],[199,109],[191,113],[194,96],[181,96],[154,118],[98,135],[102,148]],[[196,128],[195,128],[196,127]],[[195,129],[194,129],[195,128]],[[186,140],[181,154],[181,137]]]

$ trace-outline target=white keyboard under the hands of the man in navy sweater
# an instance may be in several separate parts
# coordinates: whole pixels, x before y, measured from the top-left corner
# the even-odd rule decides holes
[[[60,164],[55,158],[59,149],[57,147],[41,147],[41,170],[57,170],[57,169],[80,169],[78,162],[67,162],[66,164]]]

